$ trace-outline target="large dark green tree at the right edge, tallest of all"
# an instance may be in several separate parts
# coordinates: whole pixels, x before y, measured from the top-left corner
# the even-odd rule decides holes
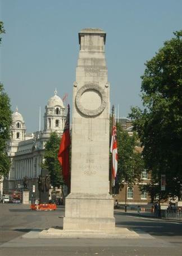
[[[161,198],[181,198],[182,185],[182,30],[147,63],[142,78],[143,109],[130,118],[143,148],[145,167],[152,171],[152,189]],[[161,174],[166,191],[160,192]],[[151,189],[152,187],[150,187]],[[153,187],[154,188],[154,187]]]

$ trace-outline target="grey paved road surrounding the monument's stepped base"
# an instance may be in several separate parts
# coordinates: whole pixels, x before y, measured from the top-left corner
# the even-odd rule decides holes
[[[31,211],[28,205],[1,204],[1,256],[110,255],[175,256],[182,254],[182,222],[139,217],[115,211],[117,226],[139,233],[139,239],[23,239],[30,231],[61,227],[64,208]]]

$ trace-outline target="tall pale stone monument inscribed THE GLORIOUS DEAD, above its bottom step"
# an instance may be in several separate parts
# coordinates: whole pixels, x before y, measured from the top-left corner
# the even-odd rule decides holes
[[[104,54],[106,33],[83,29],[73,87],[71,193],[63,229],[115,229],[109,195],[110,86]]]

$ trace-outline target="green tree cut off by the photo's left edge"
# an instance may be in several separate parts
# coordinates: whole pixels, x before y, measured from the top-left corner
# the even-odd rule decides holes
[[[0,21],[0,34],[4,32],[3,23]],[[8,174],[11,166],[10,157],[7,155],[7,142],[10,139],[11,123],[12,112],[10,98],[4,92],[3,85],[0,82],[0,175],[4,176]]]

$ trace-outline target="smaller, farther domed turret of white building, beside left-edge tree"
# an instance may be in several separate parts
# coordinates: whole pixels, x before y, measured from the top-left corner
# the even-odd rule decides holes
[[[25,140],[25,133],[26,126],[24,118],[16,107],[15,112],[12,113],[11,139],[17,141]]]

